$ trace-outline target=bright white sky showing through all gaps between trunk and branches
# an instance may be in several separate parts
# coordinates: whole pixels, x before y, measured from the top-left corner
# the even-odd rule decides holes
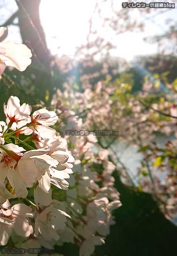
[[[150,2],[150,1],[146,1]],[[169,1],[170,2],[170,1]],[[14,0],[4,0],[4,8],[0,6],[0,17],[3,22],[16,11]],[[96,0],[41,0],[40,19],[46,33],[48,48],[52,54],[73,55],[75,47],[80,46],[86,40],[88,33],[88,19],[91,17]],[[115,0],[115,8],[120,9],[122,1]],[[1,4],[0,4],[1,5]],[[164,9],[165,11],[165,9]],[[109,16],[107,5],[102,7],[103,14]],[[144,18],[139,16],[137,10],[132,9],[132,15],[138,20]],[[154,15],[154,14],[153,14]],[[149,15],[151,16],[151,15]],[[143,41],[144,37],[161,34],[166,31],[165,20],[168,18],[177,21],[177,9],[169,9],[165,14],[160,14],[153,20],[145,20],[145,31],[143,33],[127,32],[123,35],[116,35],[112,39],[116,49],[112,51],[113,56],[123,57],[131,60],[136,55],[153,54],[158,52],[156,44],[148,44]],[[1,22],[1,23],[2,23]],[[95,19],[95,27],[101,35],[108,38],[111,33],[101,30],[99,19]],[[11,26],[8,40],[20,42],[18,27]]]

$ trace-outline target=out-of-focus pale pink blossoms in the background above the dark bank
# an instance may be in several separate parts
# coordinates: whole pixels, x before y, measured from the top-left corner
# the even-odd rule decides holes
[[[111,159],[118,164],[123,182],[136,185],[139,191],[152,193],[164,215],[172,219],[177,214],[176,82],[166,85],[172,91],[168,94],[158,88],[157,83],[148,81],[145,81],[142,90],[136,94],[131,93],[131,84],[119,78],[115,81],[108,78],[94,86],[87,83],[82,93],[73,89],[70,83],[64,84],[63,92],[57,90],[52,101],[59,113],[60,133],[100,128],[119,131],[118,138],[97,136],[94,150],[96,144],[99,144],[102,152],[104,148],[109,149]],[[161,133],[164,143],[159,145],[156,135]],[[95,159],[90,150],[91,139],[94,139],[91,134],[73,136],[71,133],[69,146],[75,158],[83,161],[79,156],[81,153],[84,154],[85,161],[90,161],[91,157]],[[120,141],[126,147],[135,145],[141,154],[142,161],[139,161],[135,174],[126,168],[116,154]],[[109,176],[109,171],[98,176],[98,182],[100,177],[110,179],[110,183],[113,179],[112,175]]]

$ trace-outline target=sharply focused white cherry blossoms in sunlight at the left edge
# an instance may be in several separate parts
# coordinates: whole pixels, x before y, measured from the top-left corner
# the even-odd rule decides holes
[[[54,111],[47,109],[39,109],[30,116],[31,106],[26,103],[20,105],[19,98],[16,96],[9,98],[7,106],[4,105],[4,112],[6,123],[0,122],[0,204],[2,204],[0,223],[3,223],[1,245],[8,242],[12,229],[24,237],[33,233],[33,228],[27,220],[27,217],[34,217],[31,213],[32,209],[25,204],[15,204],[13,207],[8,204],[8,199],[26,198],[27,188],[33,186],[35,187],[35,207],[38,210],[35,218],[35,235],[38,236],[40,232],[44,236],[47,234],[48,237],[56,238],[54,233],[57,228],[63,227],[66,216],[70,216],[59,208],[51,206],[51,183],[58,188],[67,189],[69,183],[65,179],[70,177],[72,162],[75,159],[66,149],[61,148],[59,140],[58,145],[55,144],[51,148],[42,147],[28,151],[12,141],[31,148],[29,144],[19,139],[23,133],[28,135],[31,141],[33,138],[40,138],[41,144],[46,140],[50,144],[51,141],[48,138],[56,142],[56,131],[49,125],[54,125],[58,117]],[[44,210],[40,204],[48,207]],[[16,214],[17,211],[18,214]],[[59,222],[50,222],[51,235],[45,232],[45,229],[49,227],[46,218],[49,218],[47,216],[50,214],[58,217],[61,222],[61,225]],[[20,222],[23,223],[20,225]],[[18,225],[20,225],[19,228]]]

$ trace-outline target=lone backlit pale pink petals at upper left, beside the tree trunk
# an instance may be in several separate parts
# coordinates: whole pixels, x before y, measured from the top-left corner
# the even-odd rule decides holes
[[[31,64],[32,52],[24,44],[16,44],[8,41],[0,43],[0,59],[4,61],[7,66],[14,67],[19,71],[24,71],[27,66]]]

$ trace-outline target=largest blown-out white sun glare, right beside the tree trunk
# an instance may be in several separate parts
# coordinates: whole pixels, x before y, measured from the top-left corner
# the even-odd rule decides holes
[[[40,19],[53,54],[72,55],[85,42],[94,5],[95,0],[41,1]]]

